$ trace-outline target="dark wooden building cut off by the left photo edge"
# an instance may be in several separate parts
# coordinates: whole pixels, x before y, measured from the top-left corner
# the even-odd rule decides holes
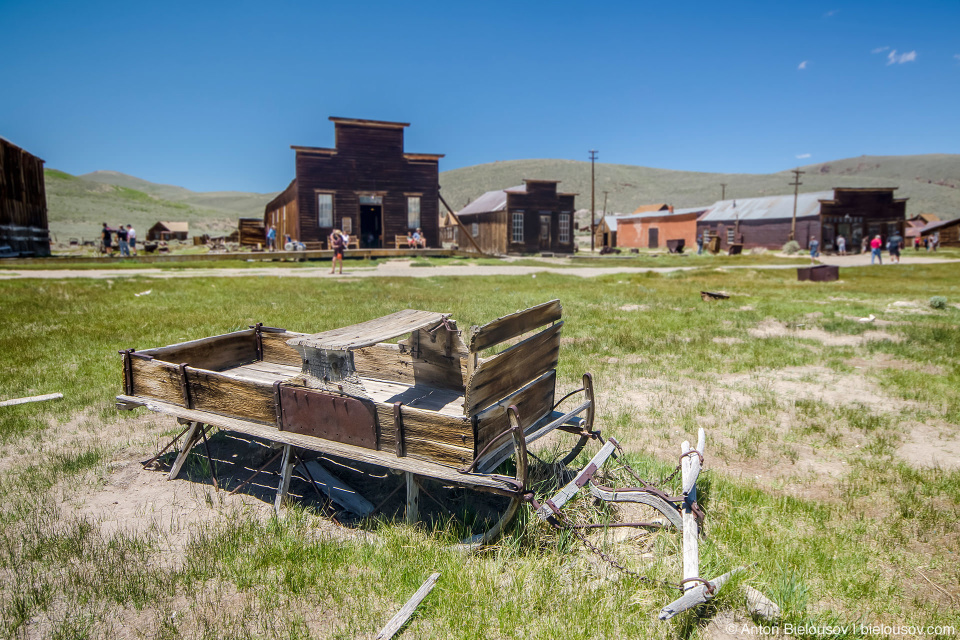
[[[50,255],[43,160],[3,138],[0,138],[0,247],[10,247],[10,255]]]

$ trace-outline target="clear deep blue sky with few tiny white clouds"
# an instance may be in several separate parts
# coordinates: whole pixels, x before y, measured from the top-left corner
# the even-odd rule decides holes
[[[0,0],[0,25],[0,136],[197,191],[282,189],[331,115],[411,123],[442,171],[960,152],[956,0]]]

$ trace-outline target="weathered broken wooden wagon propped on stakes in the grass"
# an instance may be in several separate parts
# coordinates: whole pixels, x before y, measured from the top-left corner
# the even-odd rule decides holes
[[[511,498],[500,520],[469,540],[484,543],[523,499],[530,443],[556,429],[574,434],[566,463],[596,437],[589,374],[562,398],[569,410],[557,410],[561,314],[553,300],[472,327],[467,341],[448,314],[406,310],[316,334],[258,324],[128,349],[117,406],[188,425],[170,478],[210,426],[282,445],[278,509],[297,449],[406,472],[408,519],[416,518],[417,476]],[[511,455],[515,475],[493,473]]]

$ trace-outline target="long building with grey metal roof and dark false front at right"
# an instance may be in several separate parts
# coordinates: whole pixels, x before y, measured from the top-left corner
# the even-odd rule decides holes
[[[801,193],[797,198],[795,240],[804,249],[811,238],[821,251],[836,250],[836,238],[847,240],[847,252],[860,251],[863,238],[881,236],[884,245],[894,232],[904,233],[906,198],[894,198],[896,187],[836,188],[832,191]],[[697,221],[697,233],[706,239],[718,237],[720,248],[734,242],[744,249],[779,249],[790,238],[793,220],[792,194],[722,200]]]

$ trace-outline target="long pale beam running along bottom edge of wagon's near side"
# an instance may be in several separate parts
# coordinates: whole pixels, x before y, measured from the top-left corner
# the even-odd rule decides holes
[[[290,444],[301,449],[309,449],[311,451],[328,453],[333,456],[340,456],[349,460],[365,462],[390,469],[397,469],[399,471],[411,471],[419,476],[427,476],[429,478],[436,478],[437,480],[450,482],[452,484],[474,487],[478,491],[489,491],[491,493],[508,497],[513,497],[515,495],[512,485],[499,480],[497,476],[460,473],[451,466],[439,463],[427,462],[425,460],[412,457],[398,458],[390,451],[374,451],[372,449],[365,449],[363,447],[343,444],[340,442],[331,442],[329,440],[322,440],[320,438],[305,436],[298,433],[280,431],[276,427],[260,424],[258,422],[222,416],[219,414],[210,413],[209,411],[185,409],[175,404],[159,400],[120,395],[117,396],[117,401],[129,404],[137,404],[157,413],[172,415],[187,420],[205,422],[222,429],[229,429],[239,433],[245,433],[272,442]]]

